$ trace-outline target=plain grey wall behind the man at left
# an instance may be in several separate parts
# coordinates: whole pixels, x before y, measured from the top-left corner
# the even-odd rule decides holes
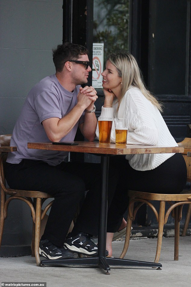
[[[52,48],[62,43],[62,5],[63,0],[0,0],[0,134],[12,133],[33,85],[55,73]],[[31,226],[26,203],[12,201],[0,256],[23,255]]]

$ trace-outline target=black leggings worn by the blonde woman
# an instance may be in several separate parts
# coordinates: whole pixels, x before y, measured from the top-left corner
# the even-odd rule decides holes
[[[111,166],[117,168],[119,181],[108,210],[108,232],[117,231],[121,225],[128,206],[127,190],[173,194],[180,193],[186,185],[187,169],[182,154],[174,154],[150,171],[136,171],[124,156],[111,157]]]

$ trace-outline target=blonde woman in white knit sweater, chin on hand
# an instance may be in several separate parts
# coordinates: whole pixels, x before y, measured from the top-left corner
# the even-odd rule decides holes
[[[177,146],[161,116],[161,104],[146,89],[136,59],[130,53],[109,55],[102,76],[105,101],[100,116],[129,119],[127,144]],[[99,137],[98,127],[96,135]],[[115,142],[114,124],[111,142]],[[178,153],[117,156],[111,157],[110,164],[120,171],[120,180],[108,210],[106,249],[109,256],[114,232],[127,225],[123,218],[127,190],[180,193],[187,178],[184,158]]]

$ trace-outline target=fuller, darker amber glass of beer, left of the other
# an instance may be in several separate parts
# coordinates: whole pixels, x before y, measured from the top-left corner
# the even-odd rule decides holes
[[[98,118],[100,144],[110,144],[112,123],[113,120],[111,118]]]

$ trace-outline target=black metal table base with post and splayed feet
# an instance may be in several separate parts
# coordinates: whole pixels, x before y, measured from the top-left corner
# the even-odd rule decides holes
[[[83,265],[91,267],[100,267],[106,270],[106,274],[111,266],[131,266],[131,267],[158,267],[161,269],[161,263],[153,263],[146,261],[128,260],[120,258],[105,257],[106,247],[106,230],[107,230],[107,198],[108,198],[108,170],[109,156],[103,154],[101,156],[102,164],[102,190],[101,190],[101,210],[98,236],[98,257],[83,257],[70,259],[42,260],[41,266],[46,265]]]

